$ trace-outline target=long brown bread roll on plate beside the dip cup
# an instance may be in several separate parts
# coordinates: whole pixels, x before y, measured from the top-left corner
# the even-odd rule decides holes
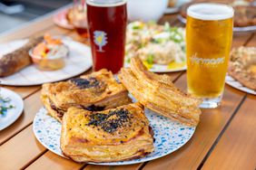
[[[21,48],[0,56],[0,77],[12,75],[32,64],[28,51],[42,40],[43,37],[31,38]]]

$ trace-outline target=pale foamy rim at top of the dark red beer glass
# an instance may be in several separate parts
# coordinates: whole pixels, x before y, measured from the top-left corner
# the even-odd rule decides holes
[[[127,0],[86,0],[86,4],[88,5],[101,7],[123,5],[126,2]]]

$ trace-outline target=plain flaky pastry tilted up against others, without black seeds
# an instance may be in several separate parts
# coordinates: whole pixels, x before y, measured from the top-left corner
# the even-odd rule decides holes
[[[146,71],[139,58],[132,59],[131,69],[122,69],[119,79],[146,108],[190,126],[198,124],[202,100],[178,90],[166,75]]]

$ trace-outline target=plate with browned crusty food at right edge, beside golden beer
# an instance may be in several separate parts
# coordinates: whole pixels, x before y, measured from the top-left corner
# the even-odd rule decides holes
[[[231,50],[226,83],[256,95],[256,47],[237,47]]]

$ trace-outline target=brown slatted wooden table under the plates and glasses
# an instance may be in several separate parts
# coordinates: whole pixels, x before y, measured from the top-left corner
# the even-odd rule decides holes
[[[165,15],[160,23],[183,26],[175,14]],[[53,33],[71,36],[73,31],[56,26],[52,14],[2,34],[0,42]],[[255,33],[234,33],[233,46],[255,46]],[[186,72],[170,73],[177,87],[186,90]],[[0,169],[255,169],[256,168],[256,96],[225,86],[222,106],[202,109],[202,117],[192,139],[178,151],[137,165],[100,166],[76,164],[56,156],[34,137],[33,118],[43,107],[41,86],[5,87],[15,90],[25,101],[23,115],[0,132]]]

